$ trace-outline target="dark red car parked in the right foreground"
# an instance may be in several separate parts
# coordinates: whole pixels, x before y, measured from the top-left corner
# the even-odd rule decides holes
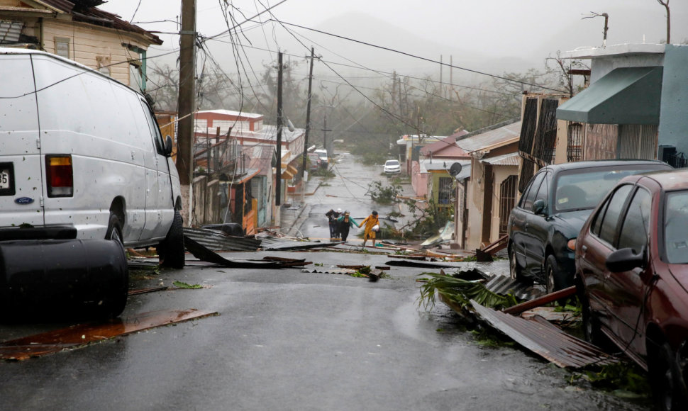
[[[688,409],[688,170],[628,176],[579,233],[587,339],[649,371],[662,410]]]

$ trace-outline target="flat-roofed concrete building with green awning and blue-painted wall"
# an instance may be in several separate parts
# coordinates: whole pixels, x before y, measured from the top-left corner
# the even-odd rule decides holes
[[[591,60],[590,86],[557,108],[579,159],[688,165],[688,45],[613,45],[562,57]]]

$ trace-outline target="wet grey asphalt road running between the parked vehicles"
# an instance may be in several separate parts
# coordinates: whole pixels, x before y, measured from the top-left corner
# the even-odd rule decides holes
[[[301,231],[328,237],[321,215],[343,198],[355,216],[370,211],[370,201],[352,187],[365,191],[360,182],[375,176],[375,169],[351,164],[345,158],[338,167],[351,167],[347,179],[358,183],[350,186],[353,196],[338,187],[348,180],[318,188],[308,196],[313,202]],[[384,255],[342,252],[225,254],[265,255],[306,258],[323,264],[321,269],[389,261]],[[506,261],[480,268],[508,269]],[[441,303],[418,310],[415,280],[422,271],[394,268],[392,278],[376,283],[300,269],[189,266],[148,273],[135,279],[135,286],[184,281],[206,288],[132,296],[124,317],[184,308],[220,315],[0,362],[0,410],[647,408],[646,402],[570,385],[570,372],[518,347],[482,347]],[[50,327],[57,325],[0,325],[0,341]]]

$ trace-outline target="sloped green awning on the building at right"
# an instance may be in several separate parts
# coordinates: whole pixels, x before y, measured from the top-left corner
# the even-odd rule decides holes
[[[662,67],[614,69],[557,108],[557,120],[587,124],[660,123]]]

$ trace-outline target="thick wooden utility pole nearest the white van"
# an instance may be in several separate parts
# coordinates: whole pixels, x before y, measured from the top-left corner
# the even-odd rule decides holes
[[[192,173],[194,171],[194,83],[196,81],[196,0],[182,0],[182,31],[179,32],[179,124],[177,125],[177,171],[182,197],[188,201],[187,224],[192,216]]]

